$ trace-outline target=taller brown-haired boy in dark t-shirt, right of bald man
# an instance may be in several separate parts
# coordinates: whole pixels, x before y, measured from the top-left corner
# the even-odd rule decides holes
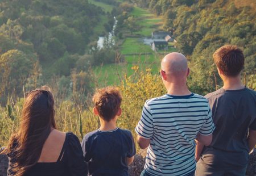
[[[249,152],[256,144],[256,91],[241,82],[245,62],[241,49],[225,45],[213,59],[224,86],[205,96],[216,129],[209,146],[197,142],[196,175],[245,175]]]

